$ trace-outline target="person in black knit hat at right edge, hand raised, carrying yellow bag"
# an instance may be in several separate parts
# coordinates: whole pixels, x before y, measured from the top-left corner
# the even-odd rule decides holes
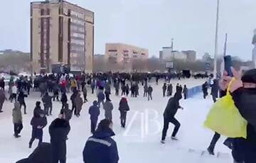
[[[247,138],[234,138],[233,158],[235,162],[252,163],[256,160],[256,69],[250,69],[242,77],[232,68],[235,81],[230,86],[230,93],[241,116],[247,120]],[[222,89],[228,88],[232,77],[227,73],[221,82]]]

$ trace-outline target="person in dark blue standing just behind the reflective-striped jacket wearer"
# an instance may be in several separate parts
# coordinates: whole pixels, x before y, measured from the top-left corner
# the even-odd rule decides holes
[[[97,126],[98,116],[100,116],[100,108],[97,101],[93,101],[93,105],[89,108],[89,114],[91,120],[91,133],[94,133]]]

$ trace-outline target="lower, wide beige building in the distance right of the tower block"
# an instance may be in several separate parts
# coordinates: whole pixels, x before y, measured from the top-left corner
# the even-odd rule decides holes
[[[112,69],[132,71],[133,64],[139,60],[147,60],[149,51],[132,45],[122,43],[107,43],[105,48],[105,60],[112,63]],[[111,70],[111,69],[110,69]]]

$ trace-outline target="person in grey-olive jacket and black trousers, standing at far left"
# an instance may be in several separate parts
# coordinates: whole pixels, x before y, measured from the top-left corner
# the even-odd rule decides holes
[[[20,135],[18,135],[19,133],[21,133],[21,130],[23,128],[20,103],[18,102],[14,103],[12,116],[13,116],[13,123],[14,123],[14,137],[16,138],[21,137]]]

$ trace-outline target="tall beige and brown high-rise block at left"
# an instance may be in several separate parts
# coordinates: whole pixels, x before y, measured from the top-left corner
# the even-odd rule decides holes
[[[31,2],[31,66],[51,72],[65,64],[92,72],[94,13],[68,1]]]

